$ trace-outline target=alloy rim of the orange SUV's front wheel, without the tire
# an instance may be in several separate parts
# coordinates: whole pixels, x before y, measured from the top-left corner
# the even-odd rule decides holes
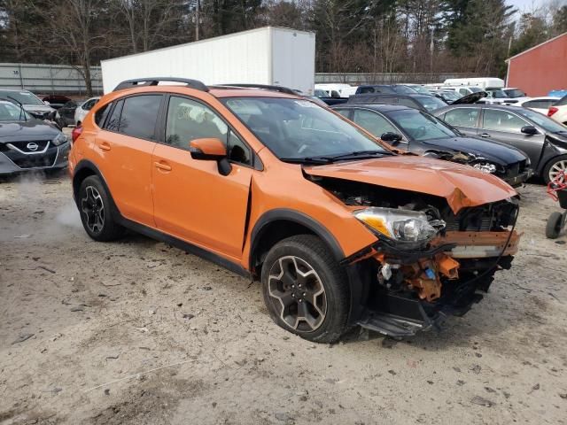
[[[307,261],[295,256],[278,259],[268,276],[268,291],[274,307],[290,328],[312,332],[327,313],[327,297],[322,281]]]

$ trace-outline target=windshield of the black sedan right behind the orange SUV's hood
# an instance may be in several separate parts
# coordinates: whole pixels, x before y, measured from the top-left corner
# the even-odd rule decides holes
[[[388,118],[394,121],[412,139],[423,141],[457,137],[453,128],[429,113],[416,109],[402,109],[388,112]]]

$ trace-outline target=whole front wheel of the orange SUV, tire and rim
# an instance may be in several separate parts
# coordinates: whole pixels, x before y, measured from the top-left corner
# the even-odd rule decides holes
[[[321,239],[283,239],[268,252],[261,270],[264,301],[277,325],[315,343],[333,343],[346,331],[346,273]]]

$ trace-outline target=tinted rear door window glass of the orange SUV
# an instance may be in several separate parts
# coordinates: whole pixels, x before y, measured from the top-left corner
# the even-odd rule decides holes
[[[139,139],[155,140],[161,95],[133,96],[124,99],[119,133]]]

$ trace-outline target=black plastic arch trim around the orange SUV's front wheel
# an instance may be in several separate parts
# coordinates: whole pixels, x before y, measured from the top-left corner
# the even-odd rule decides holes
[[[292,221],[308,228],[329,246],[330,250],[333,253],[333,256],[335,257],[335,259],[337,259],[337,261],[341,261],[345,258],[345,253],[338,244],[335,236],[333,236],[332,233],[330,233],[330,230],[328,228],[325,228],[319,221],[315,220],[305,213],[301,213],[296,210],[291,210],[289,208],[276,208],[274,210],[269,210],[268,212],[263,213],[260,218],[256,220],[254,228],[252,228],[249,256],[250,270],[253,270],[253,267],[255,266],[253,264],[253,261],[255,258],[255,252],[258,249],[258,244],[261,240],[261,236],[264,235],[264,232],[266,231],[270,223],[279,220]]]

